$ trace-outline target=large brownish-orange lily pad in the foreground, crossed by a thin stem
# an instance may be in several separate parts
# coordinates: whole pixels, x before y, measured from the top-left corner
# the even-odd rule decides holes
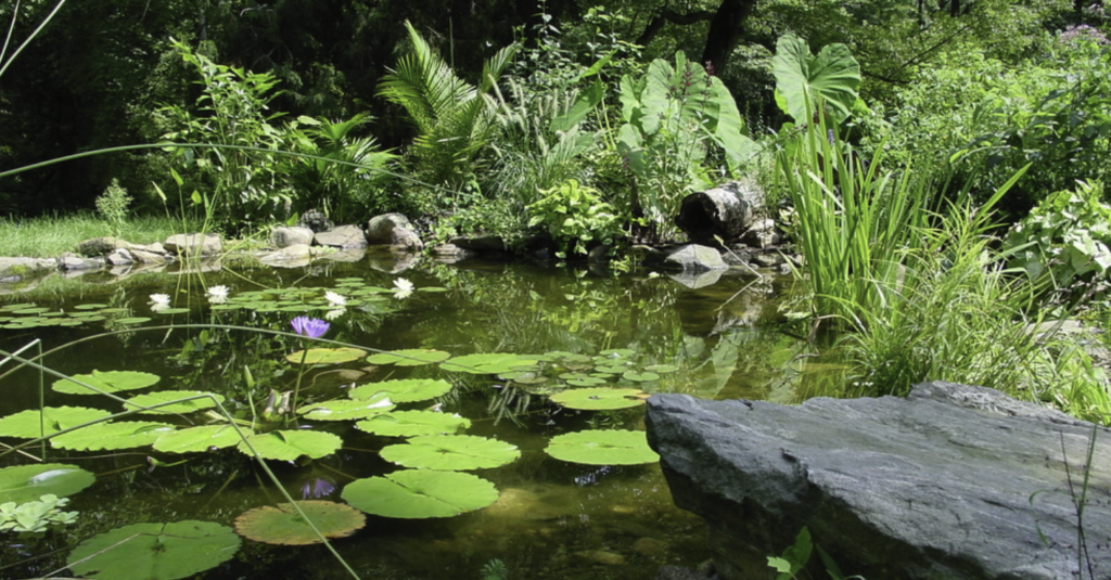
[[[297,506],[327,538],[346,538],[367,524],[359,510],[334,501],[299,501]],[[257,542],[280,546],[322,543],[291,503],[263,506],[236,518],[236,531]]]

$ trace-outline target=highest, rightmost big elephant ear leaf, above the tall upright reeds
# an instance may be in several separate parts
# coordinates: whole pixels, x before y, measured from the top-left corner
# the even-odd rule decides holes
[[[829,44],[810,54],[807,41],[785,34],[775,46],[775,101],[802,124],[810,121],[807,110],[817,110],[819,99],[835,123],[849,117],[860,88],[860,64],[849,47]]]

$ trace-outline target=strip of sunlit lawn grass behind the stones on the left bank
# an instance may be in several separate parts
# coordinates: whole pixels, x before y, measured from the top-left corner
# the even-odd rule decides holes
[[[132,243],[164,241],[181,233],[181,221],[167,217],[129,218],[118,237]],[[54,258],[79,242],[117,236],[112,226],[91,212],[39,218],[0,218],[0,257]]]

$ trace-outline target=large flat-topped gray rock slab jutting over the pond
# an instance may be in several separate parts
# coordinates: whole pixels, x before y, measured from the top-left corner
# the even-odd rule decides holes
[[[803,526],[867,578],[1077,578],[1085,469],[1083,578],[1111,578],[1111,431],[998,391],[931,382],[798,407],[658,394],[647,422],[727,580],[769,577]]]

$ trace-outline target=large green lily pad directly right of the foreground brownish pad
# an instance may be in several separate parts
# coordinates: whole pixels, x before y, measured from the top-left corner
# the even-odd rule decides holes
[[[470,473],[406,469],[381,478],[352,481],[343,488],[342,497],[374,516],[451,518],[498,501],[498,489]]]

